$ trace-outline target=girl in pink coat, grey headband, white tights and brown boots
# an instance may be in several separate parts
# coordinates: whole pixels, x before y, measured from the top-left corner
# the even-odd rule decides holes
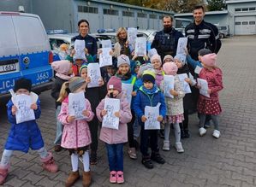
[[[69,155],[71,155],[72,172],[69,173],[66,180],[66,186],[72,186],[79,178],[78,171],[78,157],[83,160],[83,186],[89,186],[92,182],[90,172],[89,161],[89,145],[92,143],[91,133],[87,121],[93,119],[91,104],[86,100],[86,110],[82,111],[85,119],[75,120],[74,116],[68,115],[68,93],[78,93],[85,91],[86,81],[85,79],[74,77],[68,82],[65,82],[62,86],[60,96],[57,102],[62,102],[61,112],[58,115],[58,119],[63,124],[63,138],[62,147],[68,149]]]

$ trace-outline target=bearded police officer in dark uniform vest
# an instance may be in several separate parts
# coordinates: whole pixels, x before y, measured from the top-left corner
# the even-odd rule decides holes
[[[172,27],[172,21],[173,18],[171,16],[164,16],[164,29],[156,33],[151,45],[151,48],[155,48],[158,51],[162,60],[166,55],[176,56],[178,40],[184,37],[182,32]]]

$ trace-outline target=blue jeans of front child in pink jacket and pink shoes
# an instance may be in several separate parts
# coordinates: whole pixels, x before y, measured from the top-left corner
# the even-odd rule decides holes
[[[105,143],[108,152],[108,160],[111,171],[123,172],[123,143],[109,144]]]

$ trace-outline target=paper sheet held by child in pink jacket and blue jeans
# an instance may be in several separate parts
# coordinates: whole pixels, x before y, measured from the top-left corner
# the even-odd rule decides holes
[[[102,126],[118,130],[119,118],[115,116],[115,113],[120,111],[120,100],[105,98],[104,110],[107,111],[107,114],[103,117]]]

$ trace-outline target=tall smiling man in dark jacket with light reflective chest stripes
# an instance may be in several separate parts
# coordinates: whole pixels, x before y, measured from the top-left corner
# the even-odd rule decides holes
[[[185,35],[188,37],[188,53],[198,60],[198,51],[201,49],[211,50],[217,53],[221,48],[221,41],[218,36],[217,26],[204,20],[205,9],[203,6],[195,6],[193,9],[193,23],[185,28]]]

